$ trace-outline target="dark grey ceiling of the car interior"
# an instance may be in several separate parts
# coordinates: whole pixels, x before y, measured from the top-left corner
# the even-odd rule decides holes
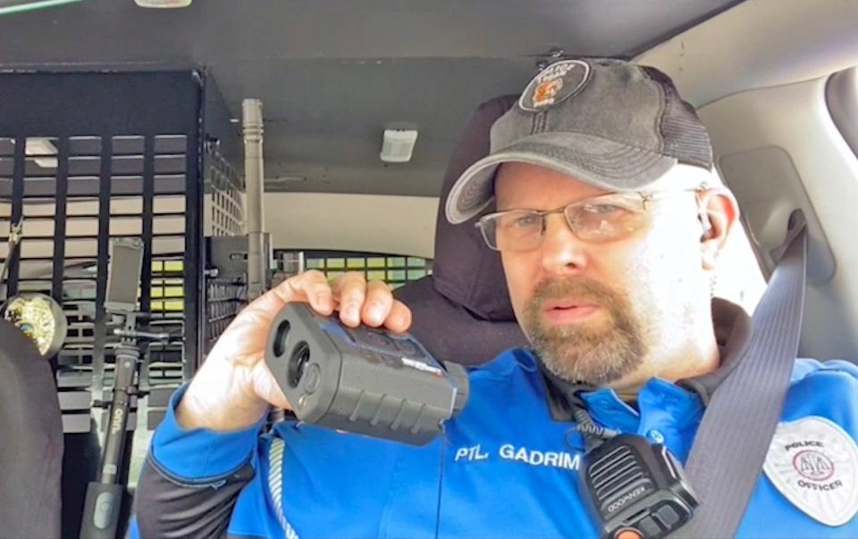
[[[263,101],[267,190],[437,196],[467,114],[552,50],[631,58],[738,3],[85,0],[0,17],[0,66],[196,67],[231,118]],[[383,129],[403,128],[419,132],[413,159],[381,162]]]

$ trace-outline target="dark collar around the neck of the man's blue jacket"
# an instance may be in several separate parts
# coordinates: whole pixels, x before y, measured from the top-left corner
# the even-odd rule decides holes
[[[700,397],[703,405],[709,404],[711,395],[739,364],[744,350],[751,342],[753,327],[751,317],[736,305],[721,298],[712,300],[712,323],[719,346],[720,365],[717,370],[696,377],[677,380],[677,389],[692,391]],[[572,419],[569,399],[580,398],[583,392],[596,392],[599,388],[581,383],[570,383],[545,369],[537,361],[541,379],[547,395],[551,417],[558,421]]]

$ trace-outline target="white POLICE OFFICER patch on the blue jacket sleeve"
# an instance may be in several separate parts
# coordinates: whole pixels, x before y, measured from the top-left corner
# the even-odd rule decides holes
[[[762,469],[795,507],[828,526],[858,512],[858,445],[830,419],[778,425]]]

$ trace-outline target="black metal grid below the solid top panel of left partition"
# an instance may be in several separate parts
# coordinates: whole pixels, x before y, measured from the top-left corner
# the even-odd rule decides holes
[[[38,153],[25,150],[22,165],[15,154],[19,140],[25,148],[38,141]],[[106,331],[102,307],[111,237],[144,239],[141,309],[151,309],[150,324],[173,336],[169,344],[150,346],[147,364],[169,361],[175,366],[173,381],[181,381],[187,144],[185,135],[0,137],[0,182],[12,178],[14,192],[4,197],[6,211],[0,213],[0,258],[7,255],[11,224],[21,216],[24,221],[9,293],[38,291],[62,303],[69,332],[56,358],[58,376],[74,379],[73,387],[80,388],[80,380],[90,375],[96,398],[111,383],[117,342]],[[171,263],[179,267],[169,271]],[[165,283],[173,285],[171,292],[180,290],[173,294],[178,308],[152,301],[153,294],[163,294],[158,293]],[[89,430],[88,405],[66,411],[67,432]]]

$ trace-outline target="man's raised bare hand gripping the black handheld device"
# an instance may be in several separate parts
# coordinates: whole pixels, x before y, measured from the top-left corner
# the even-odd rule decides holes
[[[408,307],[383,282],[367,283],[361,273],[346,273],[332,284],[316,270],[289,278],[250,303],[214,344],[176,410],[182,427],[235,430],[256,423],[269,404],[291,409],[265,365],[273,318],[290,302],[309,303],[325,316],[340,311],[350,328],[364,324],[403,332],[411,326]]]

